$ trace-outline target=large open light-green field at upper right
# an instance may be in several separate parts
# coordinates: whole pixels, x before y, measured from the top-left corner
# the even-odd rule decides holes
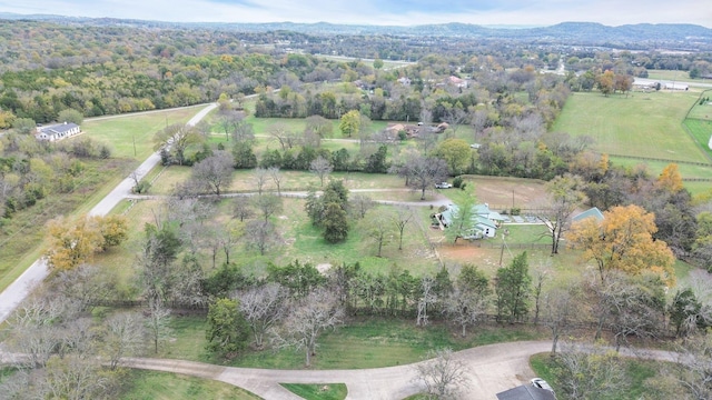
[[[552,130],[595,139],[600,152],[665,160],[709,162],[683,130],[693,92],[652,92],[604,97],[577,92],[568,98]]]

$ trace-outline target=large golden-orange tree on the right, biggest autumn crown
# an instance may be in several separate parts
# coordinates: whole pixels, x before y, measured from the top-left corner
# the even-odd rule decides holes
[[[620,270],[631,274],[651,271],[668,284],[674,283],[675,259],[664,241],[653,240],[657,231],[653,213],[632,204],[614,207],[603,216],[602,221],[575,222],[566,236],[574,248],[583,250],[584,259],[596,262],[602,282],[609,271]]]

